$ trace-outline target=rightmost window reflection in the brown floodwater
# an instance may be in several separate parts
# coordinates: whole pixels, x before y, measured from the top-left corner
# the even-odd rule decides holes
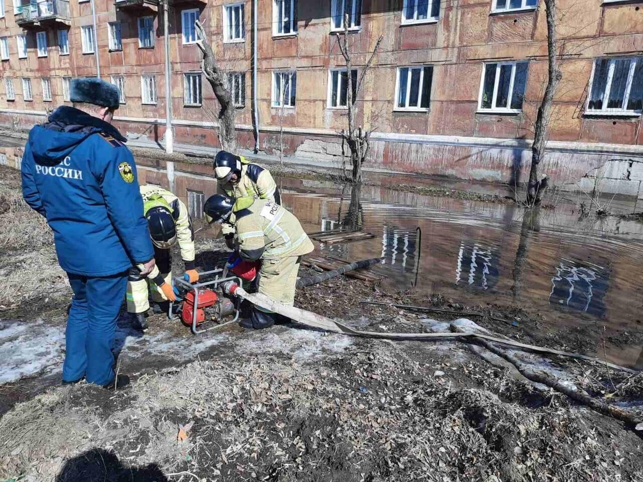
[[[556,276],[552,278],[549,303],[603,316],[603,299],[609,280],[610,272],[601,266],[561,258],[556,267]]]

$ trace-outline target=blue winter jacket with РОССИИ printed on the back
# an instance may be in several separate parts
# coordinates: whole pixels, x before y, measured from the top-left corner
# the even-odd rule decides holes
[[[125,140],[109,123],[66,106],[29,133],[23,197],[46,217],[67,272],[109,276],[154,257]]]

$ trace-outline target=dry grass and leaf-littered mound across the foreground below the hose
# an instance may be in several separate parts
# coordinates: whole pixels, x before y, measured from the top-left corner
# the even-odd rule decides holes
[[[485,388],[467,388],[465,379]],[[0,420],[0,478],[50,481],[65,459],[104,447],[131,467],[156,463],[164,474],[187,471],[202,482],[643,479],[640,441],[616,424],[559,398],[523,406],[517,400],[530,387],[502,371],[476,359],[419,362],[384,341],[321,362],[193,362],[141,377],[127,395],[111,397],[116,406],[106,415],[96,415],[96,400],[78,409],[57,393]],[[179,425],[190,427],[183,442]],[[37,431],[51,436],[40,442]]]

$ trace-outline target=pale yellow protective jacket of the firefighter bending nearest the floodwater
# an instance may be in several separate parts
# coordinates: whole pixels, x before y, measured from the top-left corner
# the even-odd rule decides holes
[[[295,215],[274,201],[258,199],[236,214],[235,231],[244,260],[279,260],[314,249]]]

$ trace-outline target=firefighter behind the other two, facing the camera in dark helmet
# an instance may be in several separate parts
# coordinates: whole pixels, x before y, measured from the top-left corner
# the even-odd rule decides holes
[[[251,204],[252,201],[248,199],[267,199],[281,204],[279,190],[270,171],[249,162],[245,157],[220,150],[214,158],[212,168],[217,178],[217,193],[235,199],[237,204]],[[239,206],[235,206],[230,224],[221,226],[221,234],[230,249],[234,249],[234,211],[239,209]]]

